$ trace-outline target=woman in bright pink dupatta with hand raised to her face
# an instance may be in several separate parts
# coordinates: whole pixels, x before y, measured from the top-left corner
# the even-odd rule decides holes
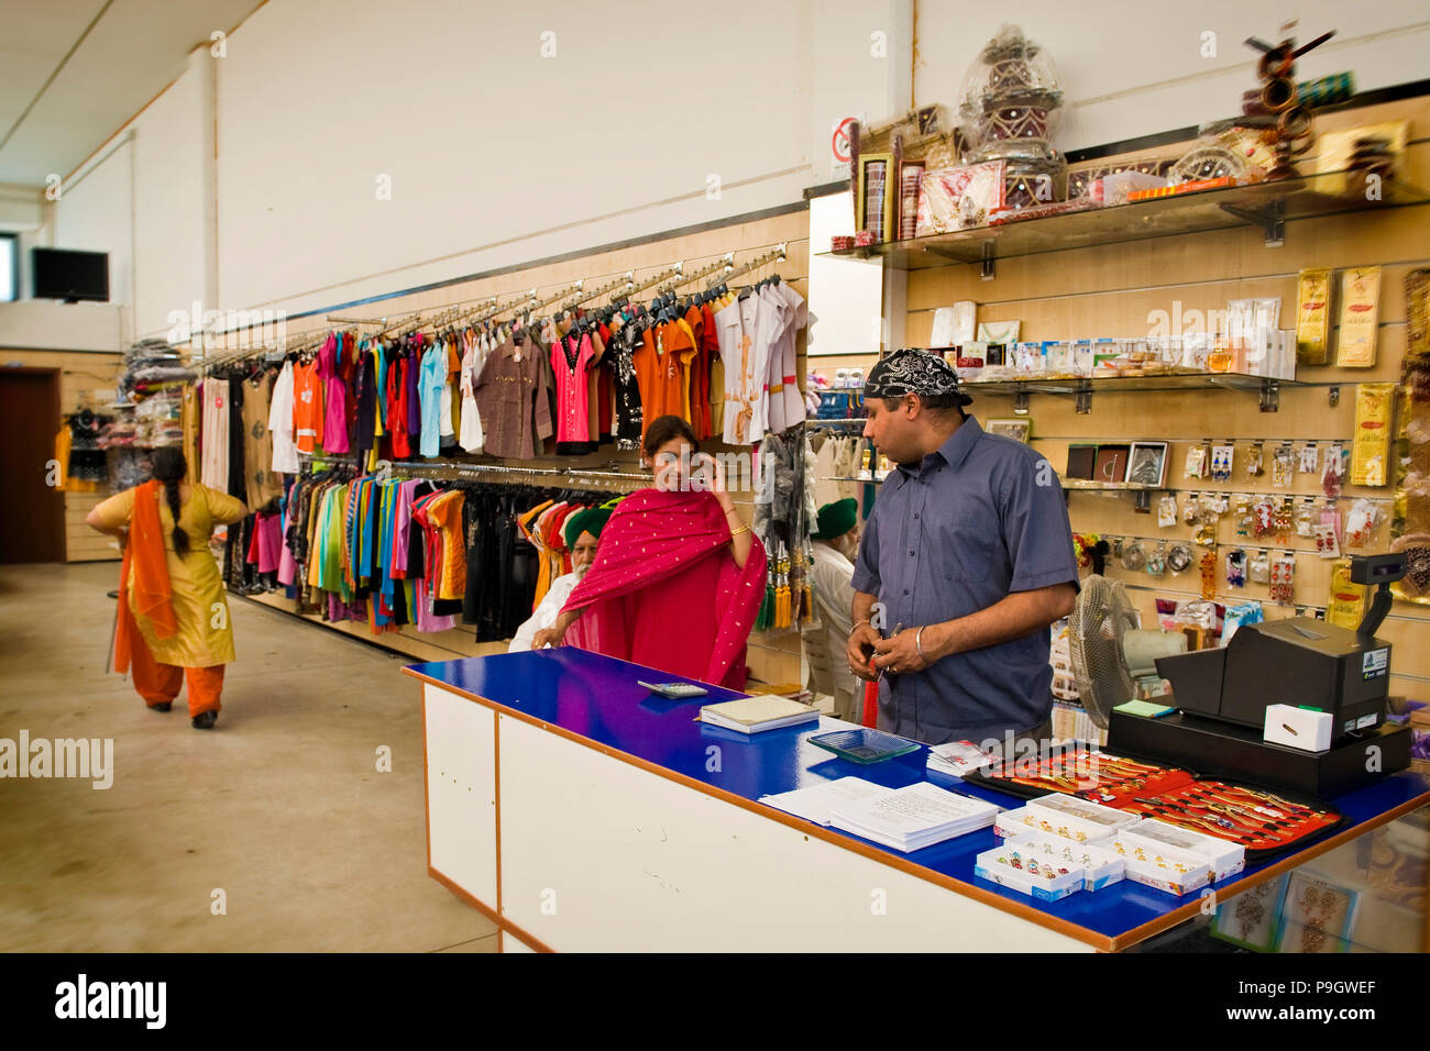
[[[718,686],[745,685],[745,643],[765,596],[765,546],[741,519],[695,432],[661,416],[645,432],[655,488],[626,496],[596,561],[533,649],[569,642]]]

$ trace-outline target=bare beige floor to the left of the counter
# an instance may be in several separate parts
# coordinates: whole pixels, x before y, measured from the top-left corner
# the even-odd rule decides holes
[[[104,672],[116,576],[0,566],[0,738],[113,739],[109,789],[0,778],[0,951],[496,951],[426,874],[402,659],[232,599],[239,659],[196,731],[182,694],[160,715]]]

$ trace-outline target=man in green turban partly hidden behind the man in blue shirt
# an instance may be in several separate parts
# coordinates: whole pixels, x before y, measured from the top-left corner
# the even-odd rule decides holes
[[[819,508],[814,541],[814,601],[822,626],[805,632],[811,682],[834,696],[834,714],[858,721],[855,699],[862,696],[858,681],[844,659],[852,631],[854,558],[859,551],[858,503],[849,496]]]

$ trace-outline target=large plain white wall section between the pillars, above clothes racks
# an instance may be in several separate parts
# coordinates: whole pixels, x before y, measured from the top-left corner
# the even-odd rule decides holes
[[[375,295],[784,204],[811,183],[809,3],[739,19],[669,0],[395,10],[269,3],[230,39],[225,303]]]

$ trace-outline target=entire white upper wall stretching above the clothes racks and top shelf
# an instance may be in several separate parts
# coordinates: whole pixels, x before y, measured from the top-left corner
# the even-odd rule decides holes
[[[1301,4],[1303,40],[1341,30],[1303,77],[1424,76],[1423,0],[1350,10]],[[1067,150],[1230,116],[1253,84],[1240,41],[1280,14],[1027,0],[1017,17],[1058,64]],[[914,0],[270,0],[74,173],[49,240],[113,253],[133,337],[196,299],[296,313],[785,204],[835,174],[839,117],[902,113],[911,83],[957,104],[998,17],[918,0],[911,70],[914,23]]]

